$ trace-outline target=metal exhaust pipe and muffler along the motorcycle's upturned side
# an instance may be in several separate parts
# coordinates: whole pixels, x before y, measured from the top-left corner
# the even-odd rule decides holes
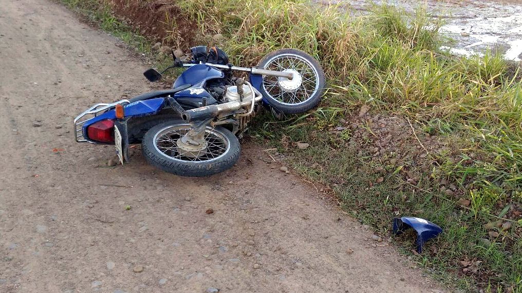
[[[259,102],[263,99],[262,95],[256,96],[255,101]],[[187,122],[201,121],[212,117],[217,117],[223,113],[229,113],[252,105],[251,99],[244,99],[240,101],[232,101],[223,104],[210,105],[205,107],[199,107],[184,111],[181,113],[181,118]]]

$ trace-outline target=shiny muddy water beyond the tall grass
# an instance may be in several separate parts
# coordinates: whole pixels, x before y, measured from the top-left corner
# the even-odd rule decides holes
[[[413,13],[419,6],[425,7],[434,17],[443,18],[446,25],[441,33],[454,39],[452,45],[441,47],[452,54],[483,55],[492,50],[503,54],[505,59],[519,62],[522,59],[522,3],[518,0],[336,0],[346,3],[366,14],[372,4],[387,3]]]

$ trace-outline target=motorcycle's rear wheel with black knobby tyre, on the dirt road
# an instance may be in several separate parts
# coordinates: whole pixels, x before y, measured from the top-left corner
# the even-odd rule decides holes
[[[152,127],[141,143],[147,161],[165,172],[187,177],[217,174],[238,161],[239,141],[232,132],[207,127],[203,142],[195,144],[185,136],[191,126],[172,120]]]

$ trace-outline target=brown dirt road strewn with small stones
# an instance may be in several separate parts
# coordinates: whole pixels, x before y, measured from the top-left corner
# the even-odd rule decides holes
[[[113,149],[71,124],[150,90],[119,44],[54,3],[0,0],[0,292],[441,291],[254,146],[212,178],[139,150],[104,166]]]

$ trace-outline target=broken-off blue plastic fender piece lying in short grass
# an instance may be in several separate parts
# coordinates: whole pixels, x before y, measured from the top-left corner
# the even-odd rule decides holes
[[[431,238],[442,233],[442,228],[436,224],[417,217],[401,217],[393,219],[393,233],[400,235],[409,228],[417,231],[417,252],[422,253],[422,246]]]

